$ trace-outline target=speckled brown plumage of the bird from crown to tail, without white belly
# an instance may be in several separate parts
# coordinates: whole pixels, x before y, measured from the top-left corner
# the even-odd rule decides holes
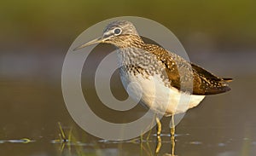
[[[118,37],[108,38],[104,43],[112,43],[119,47],[123,57],[126,56],[121,61],[130,61],[128,64],[133,64],[133,66],[129,65],[130,68],[125,63],[123,64],[125,66],[123,70],[126,70],[126,72],[133,71],[136,74],[140,71],[151,75],[154,75],[155,72],[162,72],[163,80],[167,79],[172,87],[183,92],[191,92],[193,95],[214,95],[230,90],[227,83],[231,81],[231,78],[218,78],[201,66],[186,61],[179,55],[158,45],[144,43],[131,22],[114,21],[113,24],[108,25],[104,32],[111,32],[117,26],[123,29],[122,34]],[[152,55],[148,55],[148,52]],[[140,66],[139,64],[144,61],[149,61],[150,64]],[[165,71],[161,71],[163,66]]]

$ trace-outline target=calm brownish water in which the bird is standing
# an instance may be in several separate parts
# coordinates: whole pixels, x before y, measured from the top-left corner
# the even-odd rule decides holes
[[[154,129],[148,141],[146,133],[143,140],[136,138],[124,142],[111,142],[90,136],[73,122],[61,95],[63,56],[56,56],[56,59],[52,57],[52,64],[44,62],[47,57],[40,57],[41,60],[34,61],[31,68],[27,64],[22,64],[22,58],[20,66],[19,62],[16,62],[15,66],[9,66],[15,61],[12,60],[13,57],[8,58],[9,61],[2,61],[0,79],[0,155],[154,155],[158,145]],[[211,69],[210,71],[230,76],[235,78],[235,81],[230,84],[232,90],[229,93],[208,96],[199,107],[186,113],[182,122],[177,125],[175,154],[255,155],[255,62],[252,57],[252,61],[249,62],[247,57],[244,57],[240,65],[246,68],[242,70],[242,67],[238,68],[238,58],[242,57],[234,57],[233,61],[231,59],[221,70],[211,66],[212,61],[202,62],[207,69]],[[236,68],[232,68],[233,65],[236,65]],[[252,70],[247,70],[248,68]],[[3,72],[3,69],[10,72]],[[12,69],[27,70],[29,74],[23,75],[21,71],[14,72]],[[124,98],[124,90],[119,87],[119,79],[113,78],[113,81],[118,84],[113,87],[114,95],[119,99]],[[88,87],[89,84],[90,79],[84,78],[83,90],[86,91],[85,95],[90,95],[92,109],[109,121],[130,121],[145,112],[143,107],[137,107],[129,113],[114,113],[109,116],[103,110],[104,107],[98,106],[95,90]],[[122,118],[124,116],[125,118]],[[162,118],[163,135],[158,155],[170,155],[172,152],[168,126],[170,119]],[[69,139],[67,142],[60,137],[59,122],[67,140]]]

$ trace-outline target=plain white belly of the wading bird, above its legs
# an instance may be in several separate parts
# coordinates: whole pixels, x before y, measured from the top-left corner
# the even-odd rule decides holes
[[[178,92],[176,88],[166,87],[160,75],[143,78],[141,74],[121,77],[122,83],[131,98],[139,99],[155,113],[166,116],[185,113],[189,108],[196,107],[205,97],[204,95],[189,95]]]

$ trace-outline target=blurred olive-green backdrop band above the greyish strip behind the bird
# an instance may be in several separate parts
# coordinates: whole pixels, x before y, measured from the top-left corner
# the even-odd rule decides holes
[[[87,27],[124,15],[158,21],[183,43],[189,35],[200,32],[219,49],[225,49],[224,52],[255,48],[255,1],[23,0],[0,4],[3,51],[49,48],[64,51]]]

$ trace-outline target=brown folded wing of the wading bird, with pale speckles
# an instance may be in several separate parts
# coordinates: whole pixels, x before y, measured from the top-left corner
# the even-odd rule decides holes
[[[179,55],[159,46],[151,44],[148,51],[156,55],[158,60],[166,66],[167,77],[177,90],[189,91],[193,95],[215,95],[230,90],[227,82],[230,82],[231,78],[218,78],[200,66],[190,64]]]

